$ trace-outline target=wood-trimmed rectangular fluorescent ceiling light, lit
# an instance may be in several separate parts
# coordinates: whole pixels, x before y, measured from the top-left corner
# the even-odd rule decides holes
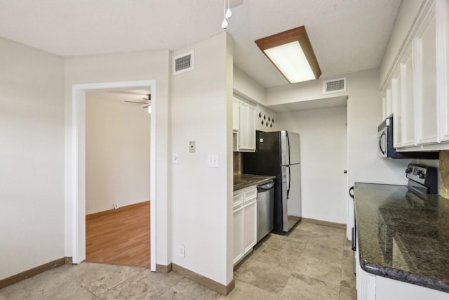
[[[321,76],[318,60],[304,26],[257,39],[255,44],[290,84],[319,79]]]

